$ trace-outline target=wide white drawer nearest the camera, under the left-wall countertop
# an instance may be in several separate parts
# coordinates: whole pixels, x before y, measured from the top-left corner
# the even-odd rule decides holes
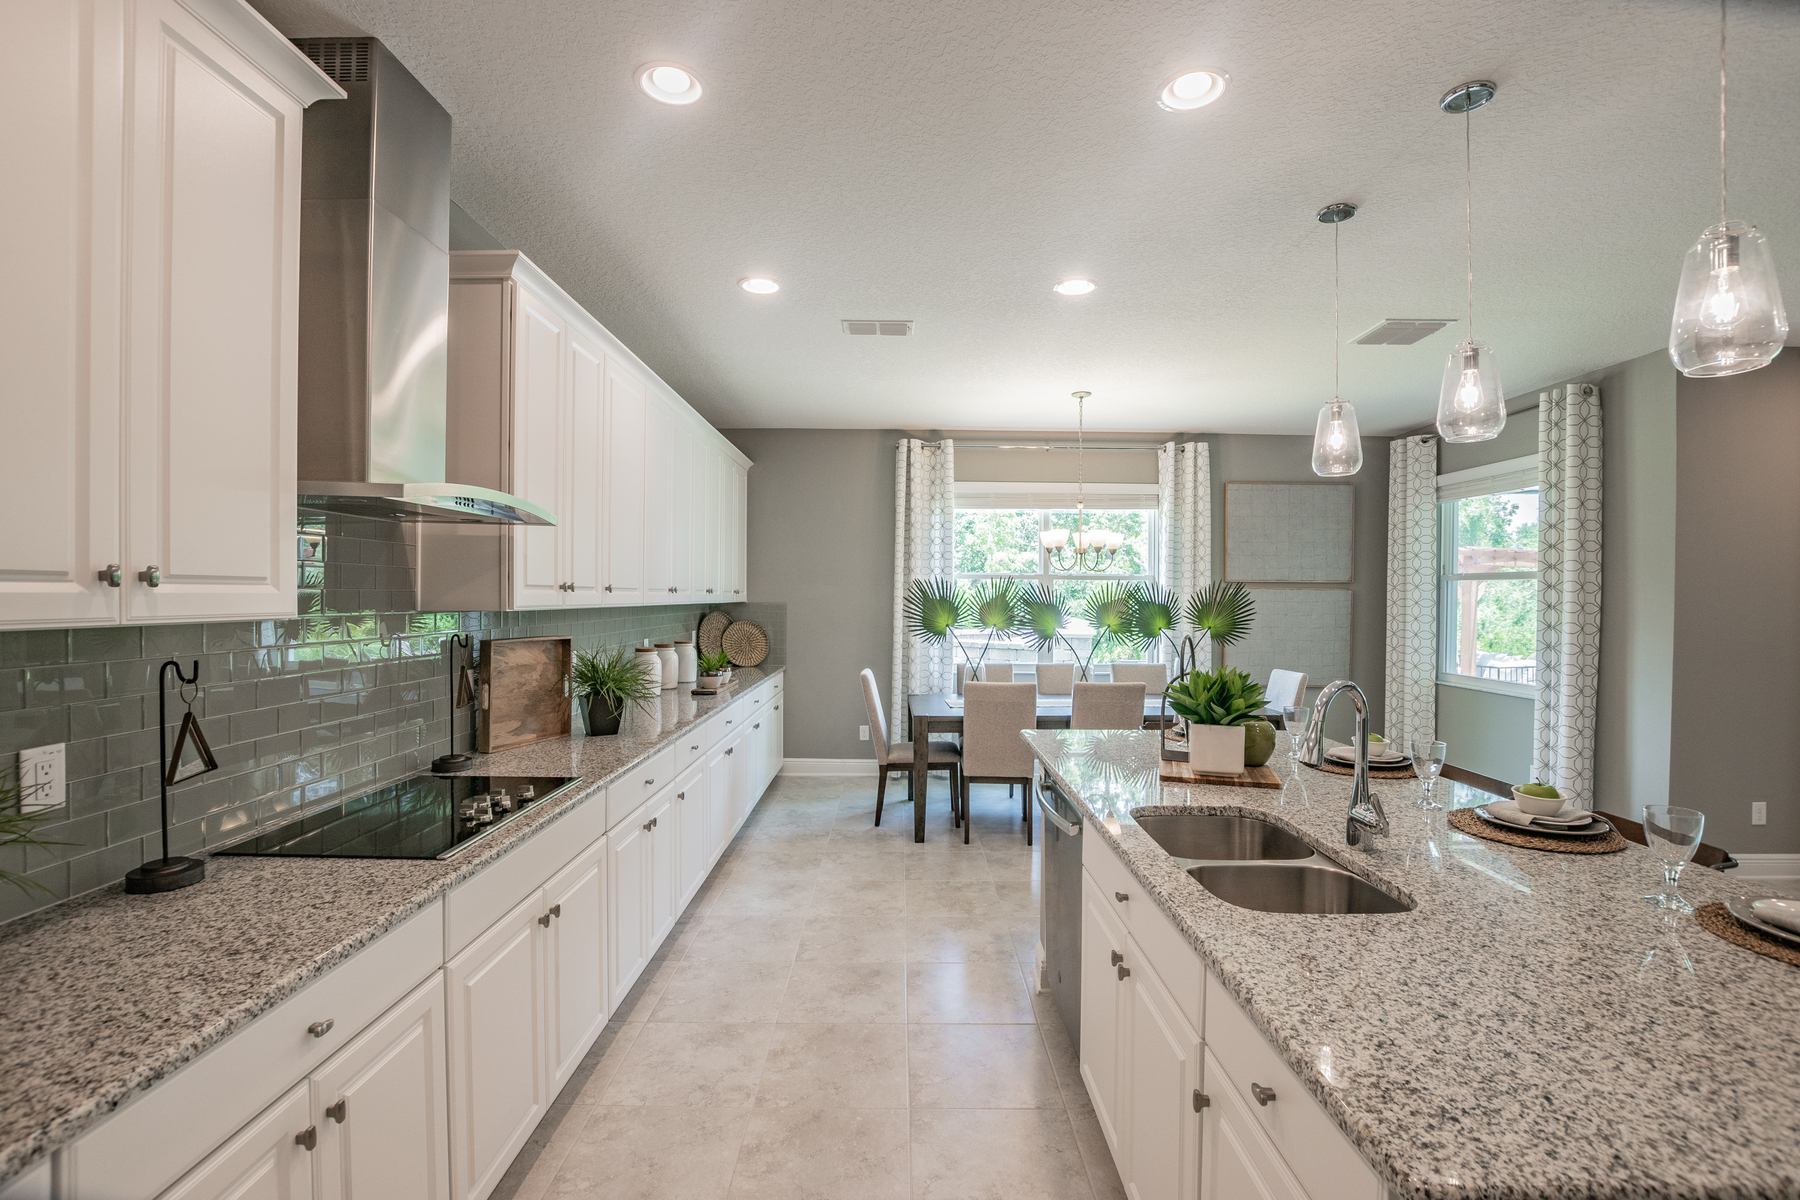
[[[443,966],[443,937],[432,903],[81,1135],[63,1151],[68,1200],[162,1191]]]

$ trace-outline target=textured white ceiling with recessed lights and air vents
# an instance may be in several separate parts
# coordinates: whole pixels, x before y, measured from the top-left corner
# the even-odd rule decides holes
[[[722,426],[1366,434],[1431,419],[1462,317],[1463,79],[1476,331],[1508,392],[1654,351],[1717,219],[1717,5],[1676,0],[252,0],[374,34],[455,119],[455,200]],[[1800,275],[1800,5],[1732,5],[1732,216]],[[691,67],[689,108],[637,92]],[[1231,74],[1188,113],[1179,70]],[[781,281],[774,297],[743,275]],[[1049,284],[1089,275],[1084,299]],[[916,320],[853,338],[844,317]]]

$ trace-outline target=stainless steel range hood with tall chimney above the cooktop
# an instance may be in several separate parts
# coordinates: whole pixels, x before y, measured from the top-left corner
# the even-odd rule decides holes
[[[450,113],[374,38],[301,38],[349,95],[306,112],[301,158],[299,507],[554,525],[445,482]]]

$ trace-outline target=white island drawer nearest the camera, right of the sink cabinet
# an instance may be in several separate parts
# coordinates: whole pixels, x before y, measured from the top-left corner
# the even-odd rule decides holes
[[[1289,1070],[1211,972],[1206,972],[1206,1049],[1222,1069],[1217,1079],[1206,1079],[1208,1090],[1231,1088],[1233,1096],[1242,1099],[1244,1110],[1269,1135],[1309,1196],[1381,1200],[1384,1193],[1375,1173],[1363,1162],[1363,1155],[1325,1115],[1325,1108],[1312,1099],[1300,1076]],[[1253,1083],[1274,1088],[1274,1099],[1258,1105],[1251,1094]]]

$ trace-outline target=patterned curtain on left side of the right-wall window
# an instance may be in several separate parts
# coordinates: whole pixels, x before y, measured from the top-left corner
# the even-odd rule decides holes
[[[1388,443],[1388,714],[1402,750],[1438,727],[1438,439]]]

